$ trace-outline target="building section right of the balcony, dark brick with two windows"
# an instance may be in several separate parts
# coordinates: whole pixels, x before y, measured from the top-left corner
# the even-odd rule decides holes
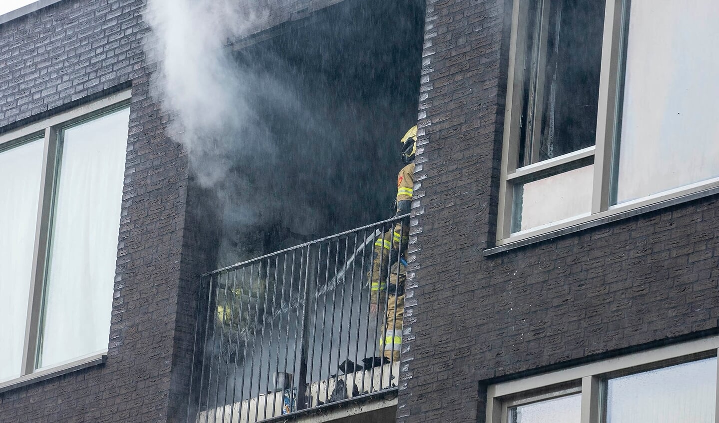
[[[398,422],[715,421],[717,12],[429,2]]]

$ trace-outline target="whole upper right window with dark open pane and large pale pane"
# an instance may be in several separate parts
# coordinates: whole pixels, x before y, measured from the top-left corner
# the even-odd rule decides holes
[[[714,0],[514,2],[499,246],[719,187],[717,19]]]

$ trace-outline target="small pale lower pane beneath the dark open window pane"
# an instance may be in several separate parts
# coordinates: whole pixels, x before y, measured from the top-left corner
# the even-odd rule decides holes
[[[512,232],[590,213],[594,165],[514,187]]]

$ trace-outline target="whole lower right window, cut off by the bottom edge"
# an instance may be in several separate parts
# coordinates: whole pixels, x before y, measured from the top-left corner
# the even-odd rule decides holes
[[[508,381],[487,423],[714,423],[719,337]]]

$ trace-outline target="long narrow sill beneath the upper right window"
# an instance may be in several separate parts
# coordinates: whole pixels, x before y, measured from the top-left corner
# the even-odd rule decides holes
[[[702,190],[697,190],[695,192],[687,192],[687,190],[684,190],[684,192],[686,192],[684,195],[669,197],[666,200],[661,200],[661,197],[670,196],[673,192],[667,192],[667,195],[661,196],[652,195],[641,202],[617,205],[602,213],[585,215],[572,220],[565,220],[561,223],[554,223],[544,228],[526,231],[526,233],[521,233],[516,236],[497,241],[499,245],[493,248],[487,248],[482,252],[482,256],[492,256],[493,254],[499,254],[514,248],[520,248],[533,243],[547,241],[569,233],[584,231],[585,229],[594,228],[595,226],[604,225],[605,223],[631,218],[633,216],[650,213],[661,208],[671,207],[672,205],[687,203],[692,200],[719,194],[719,186],[715,186],[717,185],[716,183],[711,184],[713,186],[710,187],[707,187],[706,185],[707,183],[704,182],[702,183],[702,188],[704,188]],[[654,200],[654,202],[649,203],[652,200]]]

